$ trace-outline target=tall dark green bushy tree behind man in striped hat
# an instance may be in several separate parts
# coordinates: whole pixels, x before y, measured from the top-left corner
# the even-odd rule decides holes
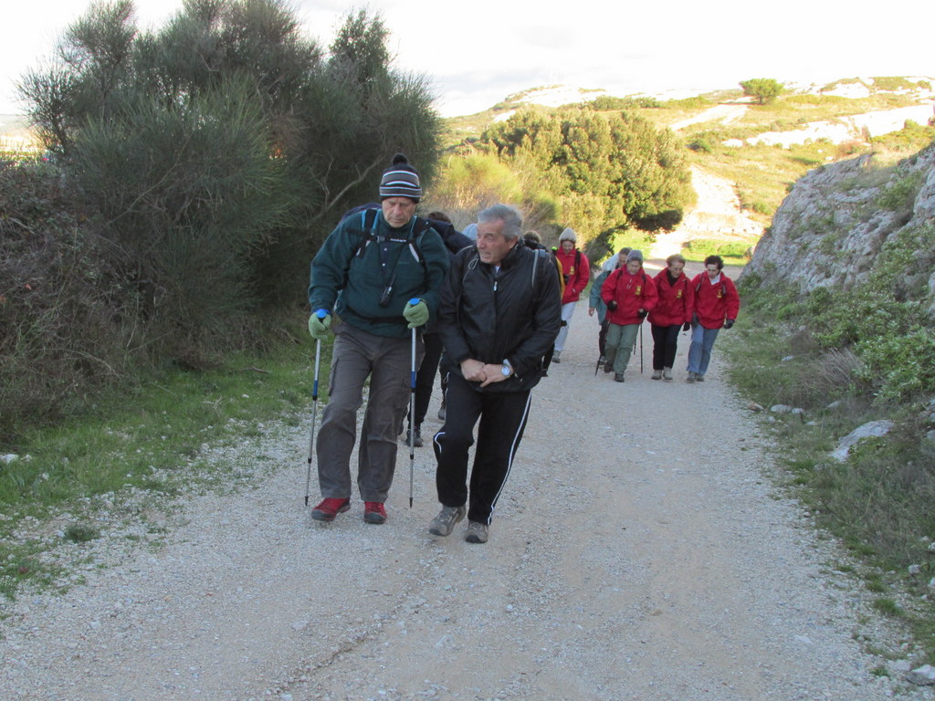
[[[391,67],[388,36],[355,12],[326,53],[281,0],[186,0],[144,33],[116,0],[24,77],[127,288],[147,281],[154,335],[240,337],[265,304],[304,298],[318,242],[373,198],[394,152],[430,178],[439,120],[424,79]]]

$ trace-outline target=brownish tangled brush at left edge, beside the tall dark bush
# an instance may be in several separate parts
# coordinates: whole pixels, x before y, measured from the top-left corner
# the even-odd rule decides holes
[[[0,164],[0,441],[123,378],[135,290],[45,165]]]

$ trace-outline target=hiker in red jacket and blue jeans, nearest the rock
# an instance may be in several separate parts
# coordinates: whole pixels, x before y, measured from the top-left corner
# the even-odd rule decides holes
[[[695,312],[692,317],[692,345],[688,348],[688,381],[703,382],[711,363],[711,350],[721,328],[734,325],[741,310],[741,296],[732,279],[723,271],[724,259],[710,255],[704,259],[703,273],[692,279]]]

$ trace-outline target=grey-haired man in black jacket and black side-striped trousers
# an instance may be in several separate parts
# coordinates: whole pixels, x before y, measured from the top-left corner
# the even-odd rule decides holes
[[[561,327],[554,265],[548,253],[526,248],[522,227],[512,207],[484,209],[477,244],[454,257],[441,289],[439,335],[449,379],[445,423],[433,441],[442,508],[428,530],[436,536],[451,534],[467,515],[465,539],[487,542],[542,356]],[[468,450],[479,419],[468,493]]]

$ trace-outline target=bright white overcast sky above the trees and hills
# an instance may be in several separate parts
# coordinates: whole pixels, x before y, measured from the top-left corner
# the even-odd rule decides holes
[[[181,0],[136,0],[140,25]],[[0,16],[0,114],[24,111],[14,82],[42,63],[84,0],[16,0]],[[933,0],[293,0],[326,46],[350,9],[380,11],[396,67],[428,76],[443,116],[472,114],[511,93],[561,83],[612,94],[734,88],[743,79],[823,83],[933,76]]]

